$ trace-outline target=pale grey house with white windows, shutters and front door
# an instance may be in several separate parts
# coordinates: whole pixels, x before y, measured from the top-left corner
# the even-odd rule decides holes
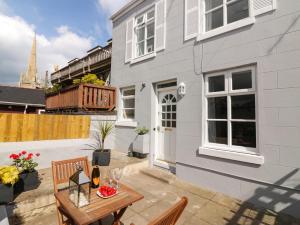
[[[298,217],[300,1],[133,0],[112,16],[115,148]]]

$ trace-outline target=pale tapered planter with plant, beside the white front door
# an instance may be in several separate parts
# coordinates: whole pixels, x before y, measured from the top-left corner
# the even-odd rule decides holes
[[[138,158],[145,158],[149,154],[150,138],[149,129],[146,127],[138,127],[135,129],[137,134],[133,145],[133,154]]]

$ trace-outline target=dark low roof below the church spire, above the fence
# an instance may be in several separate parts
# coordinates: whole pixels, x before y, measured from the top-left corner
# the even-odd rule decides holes
[[[43,89],[0,86],[0,104],[45,105]]]

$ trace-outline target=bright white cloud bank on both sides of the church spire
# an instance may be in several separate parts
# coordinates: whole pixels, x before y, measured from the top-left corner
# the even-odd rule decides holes
[[[0,13],[0,27],[0,83],[17,83],[28,64],[34,26],[20,17]],[[54,65],[62,66],[74,57],[83,56],[92,44],[91,37],[81,37],[67,26],[58,27],[54,37],[37,34],[39,75],[44,77],[45,71],[53,71]]]

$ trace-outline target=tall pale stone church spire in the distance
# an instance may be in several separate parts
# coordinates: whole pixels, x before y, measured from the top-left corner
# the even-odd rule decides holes
[[[36,34],[34,33],[29,63],[26,73],[20,79],[20,87],[36,88],[37,87],[37,67],[36,67]]]

